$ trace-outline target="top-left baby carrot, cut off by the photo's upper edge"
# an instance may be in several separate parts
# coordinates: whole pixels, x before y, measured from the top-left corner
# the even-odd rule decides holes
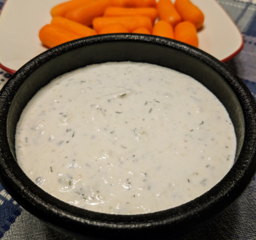
[[[68,11],[76,9],[92,1],[94,0],[71,0],[64,3],[60,3],[51,9],[51,15],[52,17],[55,17],[55,16],[64,17]]]

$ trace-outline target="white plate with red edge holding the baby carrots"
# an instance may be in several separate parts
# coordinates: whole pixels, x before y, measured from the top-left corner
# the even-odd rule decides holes
[[[0,14],[0,67],[14,73],[33,57],[47,50],[38,32],[50,23],[50,9],[64,0],[6,0]],[[192,0],[205,16],[198,32],[199,48],[225,62],[241,51],[243,37],[215,0]]]

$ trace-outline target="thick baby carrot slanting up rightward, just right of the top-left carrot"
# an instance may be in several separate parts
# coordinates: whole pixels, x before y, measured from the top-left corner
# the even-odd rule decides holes
[[[91,26],[93,19],[102,16],[109,6],[111,6],[110,0],[95,0],[68,11],[65,17],[75,22]]]

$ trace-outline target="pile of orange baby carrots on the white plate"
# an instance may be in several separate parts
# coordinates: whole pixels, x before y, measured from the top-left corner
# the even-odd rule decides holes
[[[109,33],[169,37],[198,47],[202,11],[190,0],[70,0],[51,9],[52,21],[39,31],[44,46]]]

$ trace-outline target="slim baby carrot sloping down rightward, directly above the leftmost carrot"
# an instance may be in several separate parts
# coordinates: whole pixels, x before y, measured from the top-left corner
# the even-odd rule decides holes
[[[59,26],[68,31],[72,31],[75,34],[80,35],[81,37],[88,37],[92,35],[96,35],[96,31],[93,29],[84,26],[80,23],[76,23],[64,17],[53,17],[51,24]]]

